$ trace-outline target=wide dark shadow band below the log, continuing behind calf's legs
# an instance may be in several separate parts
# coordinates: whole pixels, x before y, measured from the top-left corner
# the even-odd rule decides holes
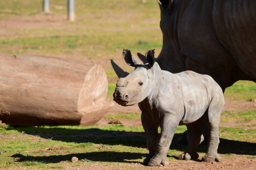
[[[146,148],[146,137],[144,132],[127,132],[119,130],[102,130],[99,128],[89,129],[67,129],[64,127],[35,127],[35,128],[7,128],[7,130],[19,130],[20,132],[25,131],[26,134],[40,136],[41,138],[51,139],[63,142],[76,142],[86,143],[91,142],[95,144],[108,144],[117,145],[121,144],[124,146],[131,147],[143,147]],[[24,133],[24,132],[23,132]],[[186,150],[186,144],[178,144],[177,141],[181,133],[176,133],[170,149],[175,149],[182,153]],[[220,144],[218,147],[218,153],[227,154],[233,153],[238,155],[256,155],[256,143],[241,142],[230,139],[220,138]],[[207,145],[200,145],[198,152],[205,153],[207,151]],[[88,153],[83,153],[88,154]],[[92,154],[92,153],[90,153]],[[94,153],[97,154],[97,153]],[[121,154],[121,153],[118,153]],[[131,153],[133,155],[135,153]],[[137,154],[137,153],[136,153]],[[126,157],[128,158],[128,157]]]

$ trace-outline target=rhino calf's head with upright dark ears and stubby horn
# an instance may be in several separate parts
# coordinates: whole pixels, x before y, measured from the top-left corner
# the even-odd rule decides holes
[[[135,105],[142,102],[153,91],[155,70],[160,69],[160,67],[158,64],[154,64],[154,50],[148,51],[146,57],[144,56],[145,59],[140,56],[144,65],[139,64],[129,50],[123,50],[123,56],[125,62],[133,66],[135,70],[128,74],[111,60],[111,64],[119,77],[113,100],[122,106]]]

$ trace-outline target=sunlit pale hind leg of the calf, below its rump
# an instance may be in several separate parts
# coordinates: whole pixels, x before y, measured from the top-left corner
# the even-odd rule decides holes
[[[221,111],[224,105],[224,101],[220,101],[218,97],[213,97],[212,102],[208,108],[208,119],[205,121],[205,125],[209,130],[208,136],[208,149],[205,156],[203,156],[203,161],[206,162],[213,162],[213,161],[221,161],[221,158],[218,156],[218,144],[219,140],[219,124],[220,124],[220,117]]]

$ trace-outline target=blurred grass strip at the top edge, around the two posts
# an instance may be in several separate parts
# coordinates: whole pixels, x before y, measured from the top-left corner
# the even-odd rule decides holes
[[[152,15],[151,13],[157,11],[157,9],[151,9],[152,6],[157,7],[157,3],[154,0],[148,0],[147,3],[142,3],[141,0],[134,0],[132,2],[122,0],[94,0],[92,2],[84,0],[75,1],[76,14],[94,14],[94,13],[130,13],[137,11],[140,8],[146,15]],[[148,11],[150,8],[150,12]],[[9,0],[8,2],[0,2],[0,10],[5,15],[33,15],[40,13],[42,10],[42,0]],[[52,0],[50,2],[50,11],[55,14],[67,13],[67,1],[65,0]],[[101,16],[98,16],[101,17]]]

